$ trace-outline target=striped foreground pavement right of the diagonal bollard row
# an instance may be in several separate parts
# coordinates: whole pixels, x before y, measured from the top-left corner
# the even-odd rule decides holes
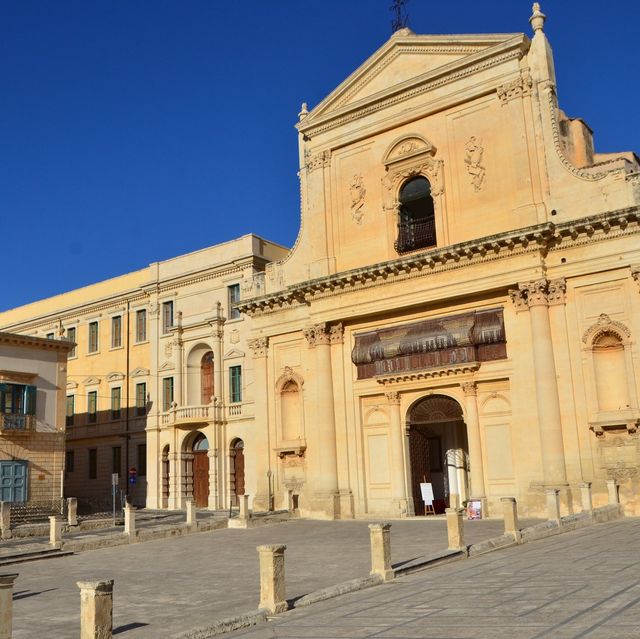
[[[550,537],[292,610],[230,639],[638,639],[640,519]]]

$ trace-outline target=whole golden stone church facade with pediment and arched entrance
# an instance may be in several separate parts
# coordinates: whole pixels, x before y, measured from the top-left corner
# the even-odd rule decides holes
[[[421,514],[615,478],[640,514],[640,166],[595,152],[533,37],[396,32],[299,115],[301,229],[243,283],[257,494]]]

